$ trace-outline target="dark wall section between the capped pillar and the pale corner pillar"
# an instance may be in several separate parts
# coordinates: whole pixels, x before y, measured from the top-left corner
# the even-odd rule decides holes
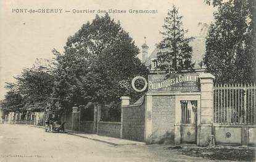
[[[145,103],[123,107],[123,139],[144,142]]]

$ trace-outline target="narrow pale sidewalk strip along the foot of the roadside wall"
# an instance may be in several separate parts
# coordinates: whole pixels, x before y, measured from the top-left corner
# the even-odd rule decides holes
[[[105,142],[110,145],[145,145],[144,142],[130,141],[130,140],[126,140],[126,139],[118,139],[118,138],[107,137],[107,136],[99,136],[97,134],[85,134],[85,133],[81,133],[78,131],[72,131],[72,130],[68,130],[68,129],[66,129],[66,132],[68,134],[72,134],[74,136],[83,137],[83,138],[91,139],[94,141]]]

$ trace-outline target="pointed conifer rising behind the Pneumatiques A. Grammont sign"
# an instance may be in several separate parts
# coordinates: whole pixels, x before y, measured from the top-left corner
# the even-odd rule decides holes
[[[182,16],[179,16],[175,6],[168,11],[168,16],[164,19],[164,31],[160,32],[163,34],[163,40],[157,46],[160,49],[158,53],[159,67],[164,71],[168,71],[170,65],[175,71],[193,67],[191,64],[192,47],[189,45],[193,38],[184,36],[188,30],[183,29],[181,19]]]

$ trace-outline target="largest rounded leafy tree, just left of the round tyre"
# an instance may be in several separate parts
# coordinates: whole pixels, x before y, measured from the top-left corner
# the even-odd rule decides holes
[[[120,96],[136,94],[131,88],[135,75],[146,75],[146,67],[136,57],[133,39],[106,14],[86,23],[68,37],[64,55],[56,55],[53,97],[60,106],[88,102],[110,104]]]

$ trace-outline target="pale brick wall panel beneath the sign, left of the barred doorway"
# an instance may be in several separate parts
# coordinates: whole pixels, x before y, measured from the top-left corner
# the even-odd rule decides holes
[[[174,144],[175,96],[152,96],[152,143]]]

